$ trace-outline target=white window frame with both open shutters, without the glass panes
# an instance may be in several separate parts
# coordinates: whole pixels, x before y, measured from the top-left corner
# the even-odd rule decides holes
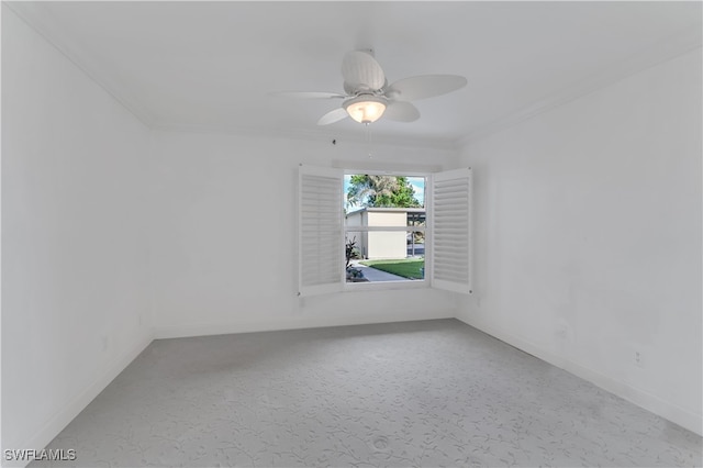
[[[352,166],[354,167],[354,166]],[[422,168],[425,169],[425,168]],[[425,178],[425,275],[422,280],[347,282],[345,239],[345,174],[380,174]],[[327,179],[322,186],[306,186],[305,178]],[[471,294],[473,280],[473,175],[470,167],[440,170],[408,170],[402,165],[377,169],[300,165],[298,177],[298,296],[330,292],[432,288]],[[320,190],[320,188],[324,193]],[[326,190],[326,191],[325,191]],[[436,196],[436,197],[435,197]],[[338,197],[338,198],[337,198]],[[338,211],[330,200],[338,200]],[[333,201],[333,204],[337,201]],[[317,211],[316,207],[321,208]],[[309,215],[305,215],[309,213]],[[310,214],[312,213],[312,214]],[[333,213],[333,214],[325,214]],[[456,216],[456,218],[454,218]],[[333,218],[336,221],[332,221]],[[319,224],[315,224],[319,222]],[[316,226],[323,229],[317,232]],[[330,227],[336,226],[336,227]],[[359,232],[353,226],[352,232]],[[417,226],[367,226],[373,231],[420,231]],[[409,230],[409,227],[412,227]],[[314,232],[312,238],[303,233]],[[462,231],[464,229],[464,231]],[[457,232],[462,233],[457,235]],[[438,235],[438,233],[443,233]],[[316,242],[320,236],[324,238]],[[315,245],[321,248],[315,249]],[[337,245],[338,247],[334,247]],[[306,255],[313,252],[312,256]],[[438,255],[437,253],[442,254]],[[462,261],[457,261],[457,258]],[[337,265],[334,266],[333,265]],[[336,274],[338,271],[338,275]],[[338,278],[338,281],[335,279]]]

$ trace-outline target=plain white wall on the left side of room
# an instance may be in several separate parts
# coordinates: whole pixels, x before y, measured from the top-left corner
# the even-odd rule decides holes
[[[148,131],[2,5],[2,448],[42,448],[150,339]]]

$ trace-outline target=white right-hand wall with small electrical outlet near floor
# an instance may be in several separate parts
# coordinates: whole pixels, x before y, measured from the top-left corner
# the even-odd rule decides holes
[[[699,434],[701,80],[698,49],[469,143],[460,313]]]

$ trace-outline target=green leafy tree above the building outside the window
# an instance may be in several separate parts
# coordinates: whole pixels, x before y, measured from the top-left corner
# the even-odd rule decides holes
[[[421,207],[408,178],[397,176],[352,176],[347,202],[353,207]]]

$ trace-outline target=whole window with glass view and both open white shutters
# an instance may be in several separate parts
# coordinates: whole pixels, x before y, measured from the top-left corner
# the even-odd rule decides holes
[[[416,201],[405,204],[417,207],[383,207],[392,203],[383,201],[388,192],[378,187],[360,190],[357,198],[350,200],[346,196],[354,176],[371,175],[355,172],[345,177],[341,169],[300,167],[300,296],[362,288],[372,282],[376,286],[379,282],[409,287],[429,285],[471,292],[470,169],[404,176],[403,183],[413,186]],[[373,203],[368,203],[370,194],[375,197]],[[408,194],[405,190],[404,196]],[[372,261],[384,260],[397,260],[390,264],[399,264],[391,269],[401,272],[397,275],[400,278],[371,281],[368,275],[347,268],[352,265],[354,269],[380,270],[381,265]],[[362,263],[367,265],[360,267]],[[401,267],[410,268],[399,270]],[[362,277],[368,281],[361,281]]]

